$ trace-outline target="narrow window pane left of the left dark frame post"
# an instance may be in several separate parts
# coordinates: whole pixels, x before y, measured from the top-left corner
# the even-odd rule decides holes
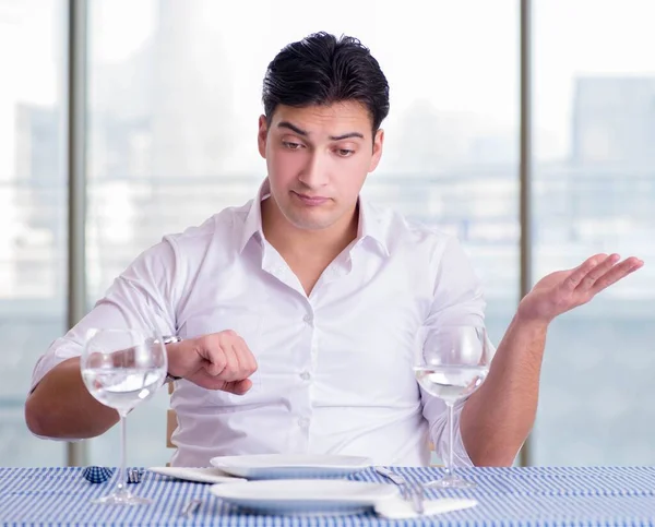
[[[0,465],[64,463],[23,408],[66,324],[64,2],[0,0]],[[20,50],[20,51],[16,51]]]

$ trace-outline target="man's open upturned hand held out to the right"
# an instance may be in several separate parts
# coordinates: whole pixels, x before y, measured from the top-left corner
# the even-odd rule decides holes
[[[541,278],[521,300],[520,313],[531,320],[550,322],[556,316],[587,303],[598,292],[643,266],[631,256],[596,254],[580,266],[557,271]]]

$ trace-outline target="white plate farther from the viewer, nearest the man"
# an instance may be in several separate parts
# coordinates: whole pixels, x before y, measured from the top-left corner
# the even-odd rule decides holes
[[[370,467],[372,460],[359,456],[321,454],[261,454],[222,456],[210,463],[223,470],[248,479],[341,478]]]

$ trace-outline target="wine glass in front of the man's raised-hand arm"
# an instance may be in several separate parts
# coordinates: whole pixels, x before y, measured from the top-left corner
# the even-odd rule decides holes
[[[467,489],[475,483],[453,470],[454,417],[457,400],[473,394],[485,381],[491,346],[481,325],[450,325],[426,332],[414,367],[416,380],[448,408],[449,453],[445,476],[426,484],[430,488]]]

